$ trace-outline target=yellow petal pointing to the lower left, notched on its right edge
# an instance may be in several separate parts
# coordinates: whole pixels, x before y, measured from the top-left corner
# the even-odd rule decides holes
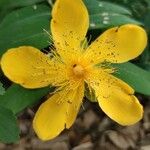
[[[84,94],[83,84],[77,89],[64,89],[44,102],[33,120],[33,128],[42,140],[55,138],[76,119]]]

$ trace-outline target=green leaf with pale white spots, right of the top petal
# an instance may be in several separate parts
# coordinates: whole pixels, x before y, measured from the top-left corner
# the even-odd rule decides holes
[[[131,12],[119,5],[97,0],[85,0],[90,14],[90,29],[109,28],[127,23],[141,25],[132,18]]]

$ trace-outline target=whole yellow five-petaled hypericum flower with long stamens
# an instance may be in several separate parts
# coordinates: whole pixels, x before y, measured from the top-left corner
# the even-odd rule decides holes
[[[42,140],[71,127],[82,104],[85,83],[95,91],[102,110],[117,123],[132,125],[142,118],[142,105],[134,90],[112,76],[114,69],[105,65],[126,62],[141,54],[147,44],[146,32],[132,24],[114,27],[85,48],[88,26],[89,16],[82,0],[57,0],[51,20],[56,48],[53,56],[22,46],[8,50],[1,59],[4,74],[25,88],[57,87],[33,121]]]

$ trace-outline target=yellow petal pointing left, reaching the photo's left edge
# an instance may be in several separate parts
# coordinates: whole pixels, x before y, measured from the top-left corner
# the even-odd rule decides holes
[[[40,50],[22,46],[8,50],[1,59],[4,74],[26,88],[40,88],[63,82],[65,66],[51,61]]]

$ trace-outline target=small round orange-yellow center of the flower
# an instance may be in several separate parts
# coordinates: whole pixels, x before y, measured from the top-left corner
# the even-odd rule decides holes
[[[76,77],[84,76],[84,68],[81,65],[74,64],[73,65],[73,73]]]

